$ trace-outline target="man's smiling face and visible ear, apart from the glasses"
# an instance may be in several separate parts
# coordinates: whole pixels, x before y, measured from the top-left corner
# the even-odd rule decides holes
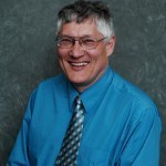
[[[95,38],[102,39],[103,34],[97,30],[94,21],[86,20],[82,23],[70,22],[62,25],[61,37]],[[59,60],[62,70],[79,92],[84,91],[103,74],[108,64],[108,55],[113,52],[115,39],[103,40],[95,49],[86,50],[79,41],[71,49],[58,48]]]

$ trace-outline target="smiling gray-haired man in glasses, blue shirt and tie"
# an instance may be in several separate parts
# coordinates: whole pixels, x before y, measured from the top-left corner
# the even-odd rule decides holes
[[[56,41],[64,74],[32,93],[8,164],[157,166],[160,118],[148,96],[108,66],[115,35],[107,7],[64,7]]]

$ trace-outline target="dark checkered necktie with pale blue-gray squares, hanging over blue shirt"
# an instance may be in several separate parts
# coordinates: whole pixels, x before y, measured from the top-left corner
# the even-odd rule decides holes
[[[74,103],[76,106],[56,158],[56,166],[76,166],[80,139],[83,129],[84,107],[79,96],[76,96]]]

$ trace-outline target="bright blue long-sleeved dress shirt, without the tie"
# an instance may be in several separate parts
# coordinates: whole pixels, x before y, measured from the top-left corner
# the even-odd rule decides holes
[[[76,95],[63,74],[34,90],[9,165],[54,165]],[[107,68],[81,98],[85,120],[79,166],[158,165],[160,118],[146,94]]]

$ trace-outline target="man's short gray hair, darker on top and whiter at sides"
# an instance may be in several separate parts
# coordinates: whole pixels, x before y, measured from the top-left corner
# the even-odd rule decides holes
[[[101,1],[80,0],[65,6],[58,13],[56,37],[64,23],[81,23],[89,19],[95,21],[97,30],[107,39],[114,35],[113,17],[106,4]]]

